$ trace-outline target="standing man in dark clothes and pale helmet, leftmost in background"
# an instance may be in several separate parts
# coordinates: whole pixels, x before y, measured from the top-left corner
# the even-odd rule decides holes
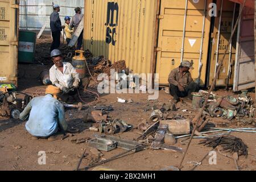
[[[51,51],[60,47],[60,32],[62,31],[61,21],[60,21],[60,6],[53,5],[53,13],[50,15],[50,26],[52,31],[52,45]]]

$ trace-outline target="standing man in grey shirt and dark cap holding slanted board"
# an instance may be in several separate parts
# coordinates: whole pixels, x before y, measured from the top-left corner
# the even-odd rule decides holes
[[[75,9],[75,16],[73,16],[70,26],[71,28],[74,28],[74,32],[76,32],[77,27],[79,26],[79,23],[81,22],[84,15],[82,14],[82,10],[80,7],[76,7]],[[84,34],[84,30],[81,32],[79,38],[77,39],[77,50],[80,50],[82,47],[82,34]]]

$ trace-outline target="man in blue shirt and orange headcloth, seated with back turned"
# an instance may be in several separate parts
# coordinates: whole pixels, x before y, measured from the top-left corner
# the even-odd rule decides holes
[[[68,129],[65,121],[64,106],[56,100],[60,89],[49,85],[46,96],[33,98],[20,113],[23,121],[28,117],[26,130],[36,138],[55,138],[58,131],[64,133]],[[48,138],[49,140],[50,138]]]

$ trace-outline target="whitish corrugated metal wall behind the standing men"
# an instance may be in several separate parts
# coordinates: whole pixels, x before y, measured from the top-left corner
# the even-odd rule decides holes
[[[60,5],[60,19],[64,24],[65,16],[73,16],[75,7],[84,9],[84,0],[20,0],[19,1],[19,24],[22,30],[40,30],[44,23],[49,20],[52,13],[52,2]],[[82,12],[84,13],[84,11]],[[47,24],[49,30],[49,24]]]

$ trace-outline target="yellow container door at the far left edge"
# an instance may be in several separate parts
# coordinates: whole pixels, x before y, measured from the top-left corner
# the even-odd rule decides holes
[[[0,0],[0,82],[17,85],[18,1]]]

